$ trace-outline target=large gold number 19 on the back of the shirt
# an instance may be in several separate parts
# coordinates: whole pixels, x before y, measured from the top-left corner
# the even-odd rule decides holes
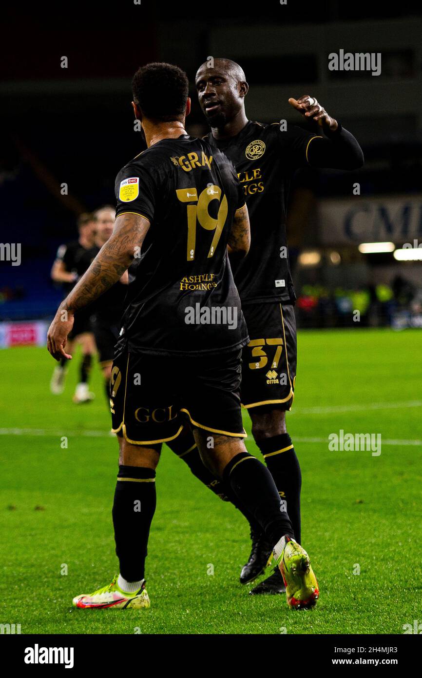
[[[176,193],[177,198],[182,203],[193,203],[186,207],[188,210],[188,261],[193,261],[195,258],[196,220],[206,231],[215,231],[211,247],[209,248],[208,258],[213,256],[221,236],[221,231],[226,223],[228,213],[226,196],[221,194],[219,186],[207,186],[199,194],[199,197],[196,188],[178,188]],[[218,200],[220,203],[216,219],[210,216],[208,212],[208,206],[212,200]]]

